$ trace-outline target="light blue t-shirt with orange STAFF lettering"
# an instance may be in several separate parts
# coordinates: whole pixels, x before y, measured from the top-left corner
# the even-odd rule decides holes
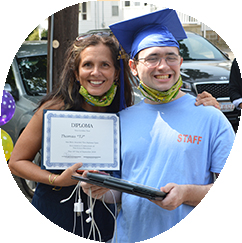
[[[220,173],[234,141],[233,129],[214,107],[195,106],[189,94],[167,104],[144,101],[120,112],[122,179],[160,188],[167,183],[206,185]],[[122,194],[118,242],[152,238],[185,218],[193,207],[173,211]],[[115,242],[115,241],[114,241]]]

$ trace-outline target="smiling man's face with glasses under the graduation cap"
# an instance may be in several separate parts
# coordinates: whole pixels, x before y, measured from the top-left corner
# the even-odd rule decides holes
[[[166,91],[169,90],[178,80],[180,76],[180,66],[183,58],[178,56],[179,51],[177,47],[150,47],[139,52],[138,59],[140,61],[134,62],[130,60],[130,67],[135,76],[138,75],[150,88]],[[160,63],[155,67],[149,67],[145,60],[150,58],[162,57]],[[178,58],[176,65],[169,65],[169,60]],[[168,63],[165,58],[167,58]],[[172,61],[170,62],[172,63]]]

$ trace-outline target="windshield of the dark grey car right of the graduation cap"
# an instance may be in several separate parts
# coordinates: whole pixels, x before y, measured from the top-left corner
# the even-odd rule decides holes
[[[199,35],[188,35],[179,43],[184,60],[226,60],[216,47]]]

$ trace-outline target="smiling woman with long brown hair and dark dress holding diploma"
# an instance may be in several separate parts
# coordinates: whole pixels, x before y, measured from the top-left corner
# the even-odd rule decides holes
[[[88,237],[91,224],[86,223],[86,214],[83,214],[84,232],[81,230],[79,218],[76,225],[74,224],[75,197],[60,204],[60,201],[68,198],[74,190],[77,181],[72,180],[71,175],[81,167],[81,163],[65,171],[46,171],[32,163],[32,160],[41,149],[44,109],[116,113],[125,106],[132,105],[129,82],[132,75],[126,63],[123,63],[124,72],[121,72],[120,62],[123,60],[120,61],[119,50],[118,42],[105,33],[76,39],[67,52],[59,86],[42,99],[18,139],[9,161],[13,174],[39,182],[32,204],[58,226],[85,238]],[[122,77],[120,74],[124,75],[122,82],[119,79]],[[86,194],[81,192],[81,198],[86,210]],[[111,209],[112,206],[109,205]],[[112,238],[113,218],[100,201],[96,202],[94,210],[102,241],[107,241]],[[95,238],[99,239],[98,235]]]

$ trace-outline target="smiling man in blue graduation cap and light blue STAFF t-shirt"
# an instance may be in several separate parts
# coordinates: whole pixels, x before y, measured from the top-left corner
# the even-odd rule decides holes
[[[117,242],[139,242],[170,229],[201,202],[226,162],[234,132],[218,109],[196,107],[195,98],[180,90],[177,40],[186,34],[174,10],[110,28],[130,54],[130,68],[146,97],[120,112],[120,176],[168,193],[152,202],[122,193]],[[93,196],[104,192],[92,187]],[[110,199],[106,192],[105,201]]]

